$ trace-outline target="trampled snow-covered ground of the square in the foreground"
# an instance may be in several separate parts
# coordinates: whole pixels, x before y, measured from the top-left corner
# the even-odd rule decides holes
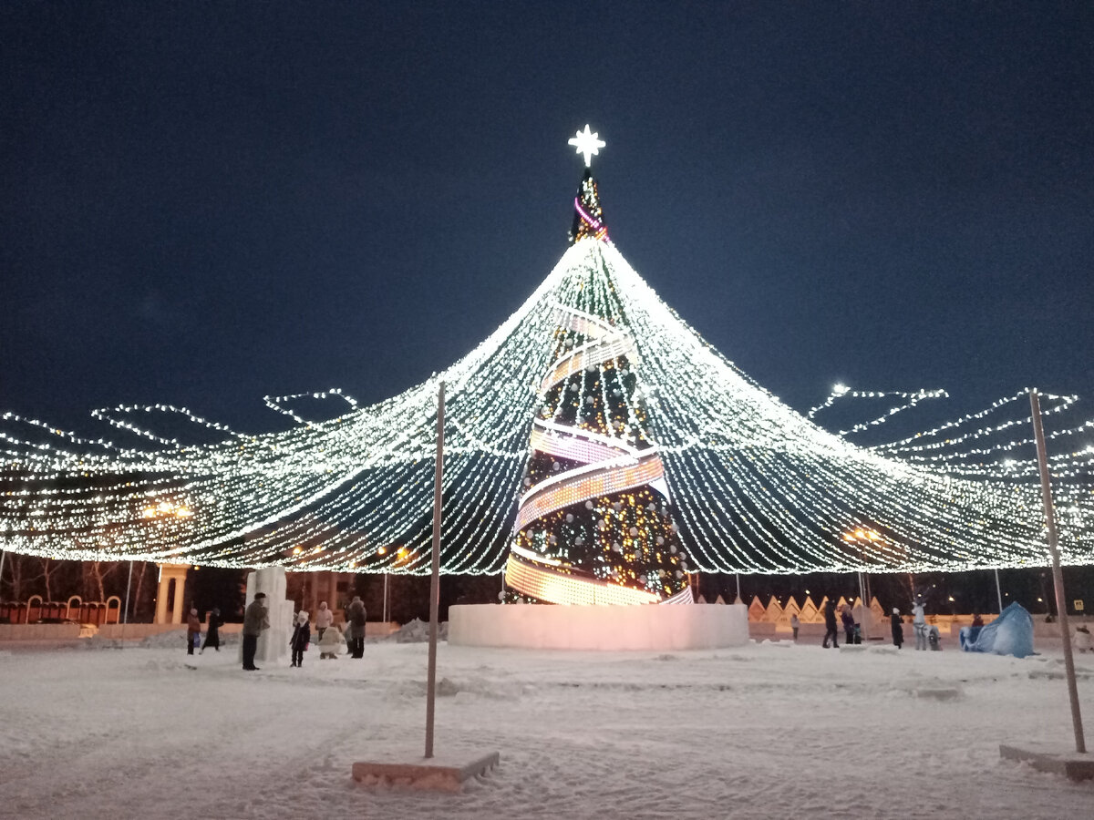
[[[1094,783],[999,757],[1000,741],[1072,742],[1058,653],[442,644],[438,751],[501,753],[491,776],[443,795],[350,777],[357,760],[420,755],[424,644],[324,661],[313,644],[302,669],[248,673],[234,646],[191,658],[177,635],[162,642],[0,651],[0,817],[968,820],[1094,807]],[[1092,726],[1094,658],[1078,663]]]

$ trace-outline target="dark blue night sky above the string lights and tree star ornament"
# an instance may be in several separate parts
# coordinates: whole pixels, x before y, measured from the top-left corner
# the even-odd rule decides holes
[[[0,5],[0,410],[371,402],[566,249],[760,384],[1094,401],[1094,5]]]

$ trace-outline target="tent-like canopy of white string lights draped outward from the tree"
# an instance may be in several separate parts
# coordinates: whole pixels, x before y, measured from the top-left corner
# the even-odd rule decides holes
[[[558,543],[573,513],[557,505],[598,492],[594,483],[617,468],[621,483],[610,493],[649,499],[642,509],[656,518],[636,524],[630,536],[622,508],[597,495],[585,502],[593,504],[590,520],[595,515],[597,528],[603,520],[610,531],[641,538],[643,527],[671,519],[686,572],[1046,564],[1025,393],[869,447],[853,443],[859,433],[827,431],[748,378],[662,302],[608,239],[595,181],[586,180],[574,242],[527,301],[444,372],[386,401],[358,407],[334,391],[270,399],[291,426],[265,434],[232,431],[171,405],[96,411],[110,434],[98,438],[3,413],[4,549],[74,560],[426,573],[443,379],[446,573],[498,573],[512,554],[540,573],[578,578],[567,570],[575,553]],[[545,387],[547,374],[558,380]],[[870,398],[851,393],[836,400]],[[304,398],[311,407],[327,402],[329,412],[306,420],[293,409]],[[559,414],[567,407],[577,413],[575,400],[584,410],[590,398],[595,424]],[[1040,398],[1061,561],[1091,563],[1094,423],[1076,419],[1073,396]],[[163,432],[177,430],[179,419],[193,436]],[[628,471],[654,464],[654,454],[662,477],[629,483]],[[540,505],[517,529],[528,534],[517,544],[524,552],[510,550],[519,540],[517,499],[521,511]],[[161,504],[191,514],[144,516]],[[638,512],[636,503],[626,515]],[[876,538],[845,538],[860,529]],[[625,548],[614,538],[615,557],[617,542]],[[580,577],[662,599],[677,588],[675,571],[668,574],[661,589],[606,573]],[[528,584],[547,583],[538,577]]]

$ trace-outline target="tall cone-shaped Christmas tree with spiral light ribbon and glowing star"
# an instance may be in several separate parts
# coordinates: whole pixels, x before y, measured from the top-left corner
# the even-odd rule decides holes
[[[582,153],[590,138],[596,145],[586,126],[571,143]],[[637,351],[598,248],[607,226],[590,153],[570,233],[589,253],[567,271],[569,303],[552,306],[554,364],[539,384],[505,583],[551,604],[690,602]]]

